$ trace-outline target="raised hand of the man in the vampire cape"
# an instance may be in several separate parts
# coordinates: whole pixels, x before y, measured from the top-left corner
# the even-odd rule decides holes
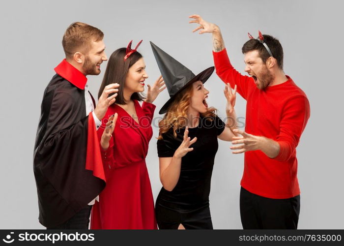
[[[117,83],[107,85],[104,88],[103,93],[99,97],[98,104],[94,109],[94,114],[97,116],[97,118],[100,121],[104,118],[105,113],[108,110],[109,106],[116,101],[115,97],[117,96],[118,87],[119,87],[119,84]],[[109,96],[111,93],[115,93],[115,94]]]

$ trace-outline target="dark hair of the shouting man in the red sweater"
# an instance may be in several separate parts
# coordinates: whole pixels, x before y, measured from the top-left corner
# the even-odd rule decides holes
[[[274,38],[270,35],[263,35],[265,43],[269,47],[272,56],[277,60],[277,64],[280,69],[283,70],[283,48],[280,41],[277,38]],[[245,54],[249,51],[258,50],[259,57],[265,63],[266,60],[270,57],[265,46],[259,42],[257,39],[250,39],[241,48],[242,54]]]

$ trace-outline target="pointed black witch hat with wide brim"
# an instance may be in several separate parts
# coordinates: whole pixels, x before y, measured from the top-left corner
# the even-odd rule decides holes
[[[214,67],[211,66],[200,72],[198,75],[195,75],[186,66],[176,61],[158,46],[152,42],[150,42],[150,45],[152,47],[155,60],[158,63],[161,75],[165,81],[167,91],[170,94],[170,99],[159,111],[159,114],[164,114],[167,112],[170,104],[179,92],[199,80],[204,84],[213,73]]]

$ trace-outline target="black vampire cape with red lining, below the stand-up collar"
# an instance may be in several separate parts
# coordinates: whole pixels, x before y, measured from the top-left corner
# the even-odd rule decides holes
[[[43,95],[33,169],[39,222],[46,227],[71,218],[105,187],[95,123],[92,113],[86,116],[83,89],[56,74]]]

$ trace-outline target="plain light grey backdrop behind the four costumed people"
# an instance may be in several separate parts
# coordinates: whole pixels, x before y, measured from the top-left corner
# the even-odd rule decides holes
[[[105,33],[107,55],[143,39],[149,79],[159,75],[149,40],[198,73],[213,65],[211,35],[191,31],[188,16],[200,14],[220,26],[234,67],[244,73],[242,44],[258,30],[280,39],[287,75],[308,95],[311,118],[297,148],[301,188],[300,229],[343,229],[343,19],[342,1],[7,1],[1,4],[1,171],[0,228],[43,228],[38,222],[32,153],[44,89],[64,58],[61,39],[75,21]],[[89,76],[97,95],[99,76]],[[208,103],[225,117],[224,83],[214,73],[206,83]],[[158,109],[167,91],[155,101]],[[245,101],[238,96],[238,116]],[[155,121],[154,137],[158,136]],[[214,228],[240,229],[239,183],[244,155],[233,155],[219,141],[210,209]],[[154,199],[161,184],[156,140],[146,158]]]

